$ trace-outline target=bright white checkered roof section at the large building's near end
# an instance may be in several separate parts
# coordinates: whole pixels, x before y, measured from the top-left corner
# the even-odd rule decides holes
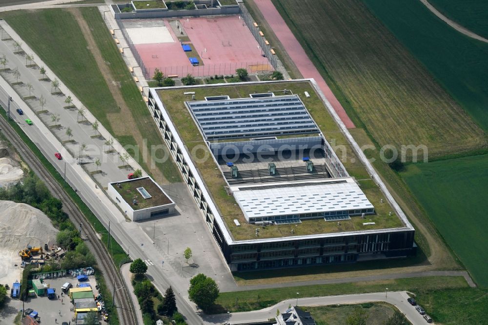
[[[289,214],[374,208],[352,178],[306,183],[274,183],[264,186],[235,186],[231,189],[247,220]]]

